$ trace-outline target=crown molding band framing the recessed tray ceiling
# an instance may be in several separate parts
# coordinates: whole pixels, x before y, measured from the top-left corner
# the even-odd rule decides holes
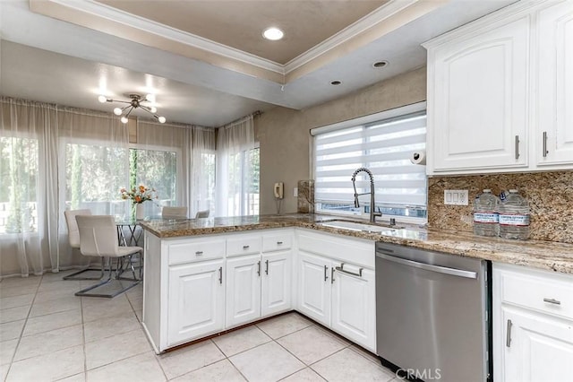
[[[339,51],[347,53],[363,46],[364,40],[371,42],[380,38],[386,31],[382,32],[377,28],[383,25],[382,22],[399,20],[399,13],[409,12],[409,9],[418,5],[432,2],[440,4],[447,1],[389,0],[344,30],[290,60],[286,65],[126,13],[95,0],[30,0],[30,10],[235,72],[286,84],[329,64],[337,58]]]

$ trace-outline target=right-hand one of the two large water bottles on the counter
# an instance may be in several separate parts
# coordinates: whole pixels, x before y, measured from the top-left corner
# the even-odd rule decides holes
[[[526,240],[529,237],[529,205],[517,190],[509,190],[498,212],[501,238]]]

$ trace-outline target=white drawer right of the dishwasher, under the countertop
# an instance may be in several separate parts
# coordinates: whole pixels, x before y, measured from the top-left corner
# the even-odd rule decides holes
[[[501,300],[573,319],[573,282],[552,280],[551,276],[502,273]]]

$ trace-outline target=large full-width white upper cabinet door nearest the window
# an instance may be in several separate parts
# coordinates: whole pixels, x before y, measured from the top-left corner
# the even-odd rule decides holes
[[[523,17],[429,49],[429,172],[526,167],[529,29]]]

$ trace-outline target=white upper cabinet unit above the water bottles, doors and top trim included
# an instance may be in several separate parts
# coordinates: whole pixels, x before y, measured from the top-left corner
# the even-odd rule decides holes
[[[573,168],[572,8],[518,2],[424,44],[428,175]]]

